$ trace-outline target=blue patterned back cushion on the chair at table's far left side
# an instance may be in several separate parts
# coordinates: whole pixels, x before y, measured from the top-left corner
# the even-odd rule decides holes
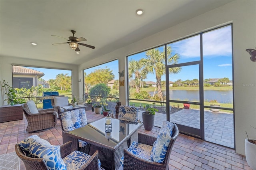
[[[84,109],[75,109],[62,113],[61,116],[63,130],[69,132],[76,128],[87,125],[87,119]]]

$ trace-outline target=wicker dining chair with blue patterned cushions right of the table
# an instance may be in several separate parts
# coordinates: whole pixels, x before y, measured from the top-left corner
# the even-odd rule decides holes
[[[157,137],[138,134],[138,142],[132,142],[120,159],[119,170],[168,170],[172,147],[179,130],[176,124],[163,122]]]

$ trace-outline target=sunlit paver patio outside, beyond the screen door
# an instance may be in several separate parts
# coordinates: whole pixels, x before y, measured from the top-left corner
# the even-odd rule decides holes
[[[142,121],[142,111],[138,119]],[[156,113],[154,126],[162,127],[166,114]],[[196,109],[182,109],[170,115],[170,121],[188,127],[200,128],[200,113]],[[232,113],[204,111],[205,140],[234,148],[234,120]]]

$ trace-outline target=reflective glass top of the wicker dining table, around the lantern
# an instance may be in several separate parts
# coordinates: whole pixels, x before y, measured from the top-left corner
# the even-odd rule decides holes
[[[84,138],[84,141],[91,140],[114,148],[126,136],[130,136],[138,130],[140,126],[142,123],[112,119],[112,131],[106,132],[105,118],[103,118],[68,133]]]

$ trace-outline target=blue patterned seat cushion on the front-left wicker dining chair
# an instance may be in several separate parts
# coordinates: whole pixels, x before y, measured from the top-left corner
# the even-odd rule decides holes
[[[76,170],[76,169],[79,169],[83,164],[85,164],[90,158],[91,158],[90,155],[75,150],[72,153],[68,154],[68,156],[63,158],[63,161],[65,162],[68,170]],[[98,159],[98,166],[100,168],[99,159]]]

